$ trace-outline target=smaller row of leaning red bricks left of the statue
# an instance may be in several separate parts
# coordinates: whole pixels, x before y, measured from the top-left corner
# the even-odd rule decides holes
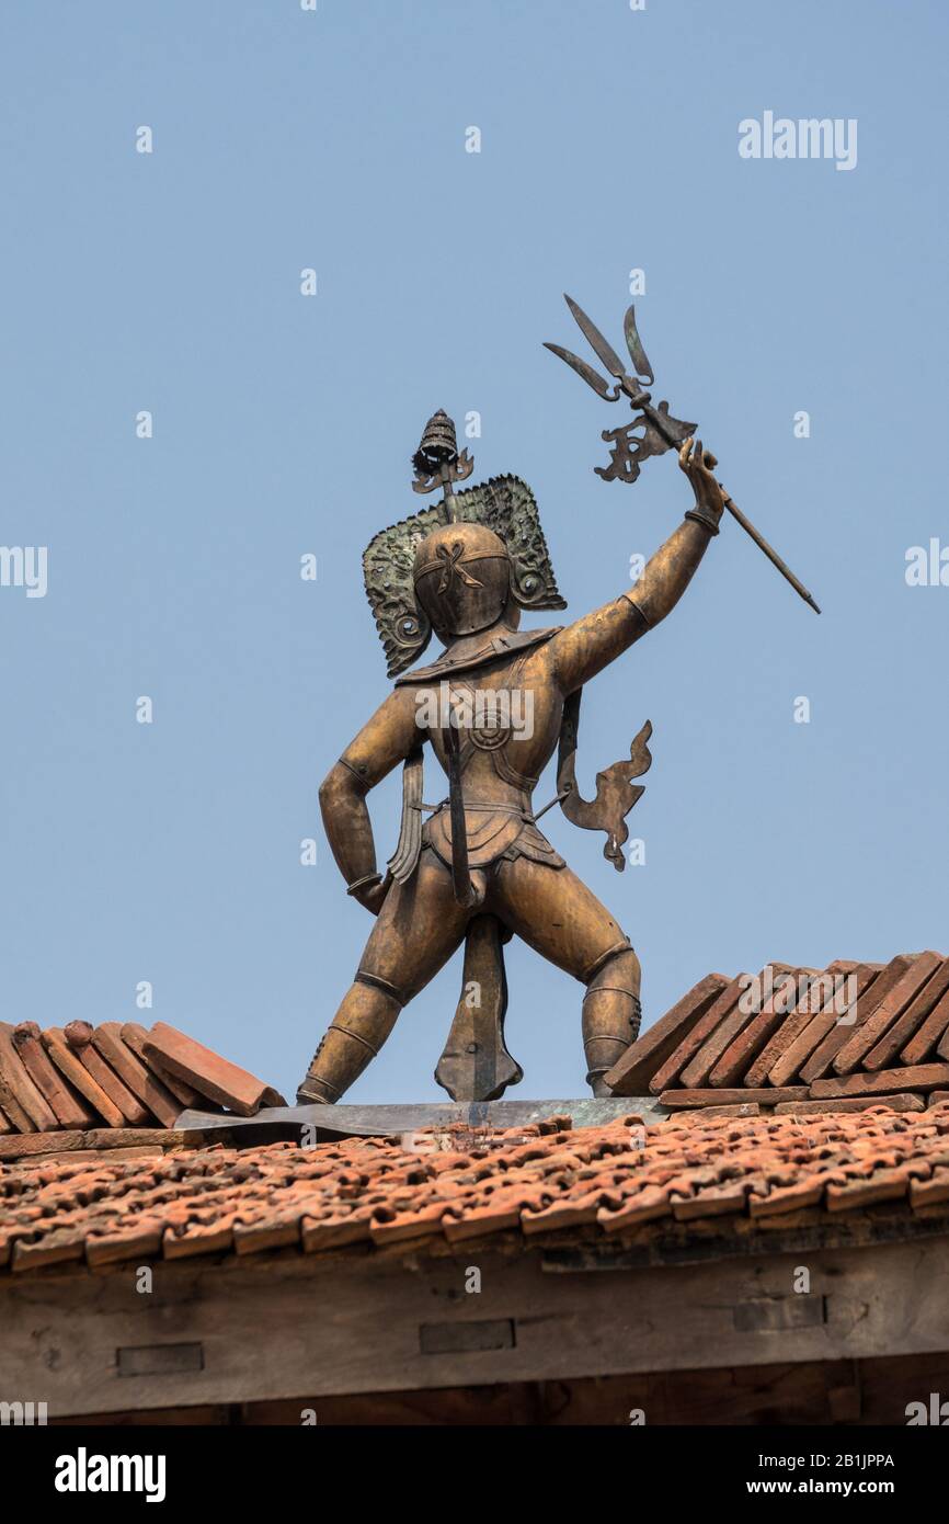
[[[175,1027],[0,1021],[0,1137],[107,1128],[171,1128],[186,1106],[253,1116],[283,1097]]]

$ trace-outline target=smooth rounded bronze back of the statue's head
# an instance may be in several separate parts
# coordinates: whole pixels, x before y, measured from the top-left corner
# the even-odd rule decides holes
[[[497,623],[507,607],[510,556],[484,524],[443,524],[419,541],[413,582],[442,640],[474,636]]]

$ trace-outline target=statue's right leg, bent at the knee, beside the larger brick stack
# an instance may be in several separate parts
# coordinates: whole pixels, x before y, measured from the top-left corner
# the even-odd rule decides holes
[[[583,1052],[586,1084],[609,1096],[608,1068],[640,1032],[640,960],[629,937],[568,867],[530,858],[501,863],[486,908],[558,968],[586,985]]]

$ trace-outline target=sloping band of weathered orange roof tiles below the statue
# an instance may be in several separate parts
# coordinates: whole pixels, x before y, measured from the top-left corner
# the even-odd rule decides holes
[[[178,1149],[131,1161],[0,1164],[0,1265],[24,1273],[128,1259],[297,1248],[445,1253],[486,1236],[623,1244],[711,1225],[757,1233],[888,1204],[946,1216],[949,1105],[923,1114],[564,1119],[297,1148]],[[547,1239],[544,1241],[548,1242]]]

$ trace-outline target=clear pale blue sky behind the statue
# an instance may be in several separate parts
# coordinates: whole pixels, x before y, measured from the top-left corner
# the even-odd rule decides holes
[[[570,613],[628,585],[687,485],[672,457],[602,483],[620,410],[541,341],[582,347],[564,290],[620,341],[634,267],[657,395],[824,614],[727,523],[585,698],[586,792],[653,722],[646,866],[559,812],[550,837],[640,951],[647,1021],[708,969],[949,951],[949,587],[905,582],[949,544],[944,5],[20,0],[0,26],[0,539],[49,547],[46,597],[0,588],[5,1020],[161,1018],[292,1093],[370,930],[317,814],[388,689],[363,547],[419,504],[428,415],[478,410],[474,480],[532,483]],[[855,117],[856,168],[740,158],[766,110]],[[519,1094],[583,1093],[580,986],[518,945],[509,975]],[[459,981],[349,1099],[443,1099]]]

